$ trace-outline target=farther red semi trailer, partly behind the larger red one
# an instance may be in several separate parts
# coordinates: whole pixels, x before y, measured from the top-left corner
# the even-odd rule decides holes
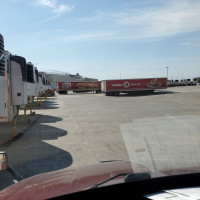
[[[90,81],[90,82],[58,82],[57,83],[57,92],[59,94],[67,94],[68,91],[73,91],[77,93],[95,91],[96,93],[100,93],[101,82]]]

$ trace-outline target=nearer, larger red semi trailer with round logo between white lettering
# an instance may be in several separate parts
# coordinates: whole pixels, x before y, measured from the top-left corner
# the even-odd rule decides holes
[[[124,80],[104,80],[101,90],[107,96],[120,93],[133,93],[136,91],[153,92],[156,89],[166,89],[167,78],[141,78]]]

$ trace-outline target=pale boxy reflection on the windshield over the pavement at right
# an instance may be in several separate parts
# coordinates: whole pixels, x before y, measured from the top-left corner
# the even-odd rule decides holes
[[[155,171],[200,166],[200,116],[166,116],[120,125],[132,162]]]

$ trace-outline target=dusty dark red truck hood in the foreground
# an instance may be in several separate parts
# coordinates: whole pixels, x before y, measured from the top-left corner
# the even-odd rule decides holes
[[[149,170],[141,166],[141,172]],[[128,161],[106,162],[36,175],[0,191],[0,199],[48,199],[85,190],[121,173],[133,173]],[[124,177],[123,177],[124,178]],[[121,182],[123,179],[121,179]],[[110,183],[111,184],[111,183]]]

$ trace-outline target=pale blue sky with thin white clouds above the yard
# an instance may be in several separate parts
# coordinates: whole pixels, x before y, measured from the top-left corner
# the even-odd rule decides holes
[[[200,76],[199,0],[0,0],[5,49],[39,71]]]

